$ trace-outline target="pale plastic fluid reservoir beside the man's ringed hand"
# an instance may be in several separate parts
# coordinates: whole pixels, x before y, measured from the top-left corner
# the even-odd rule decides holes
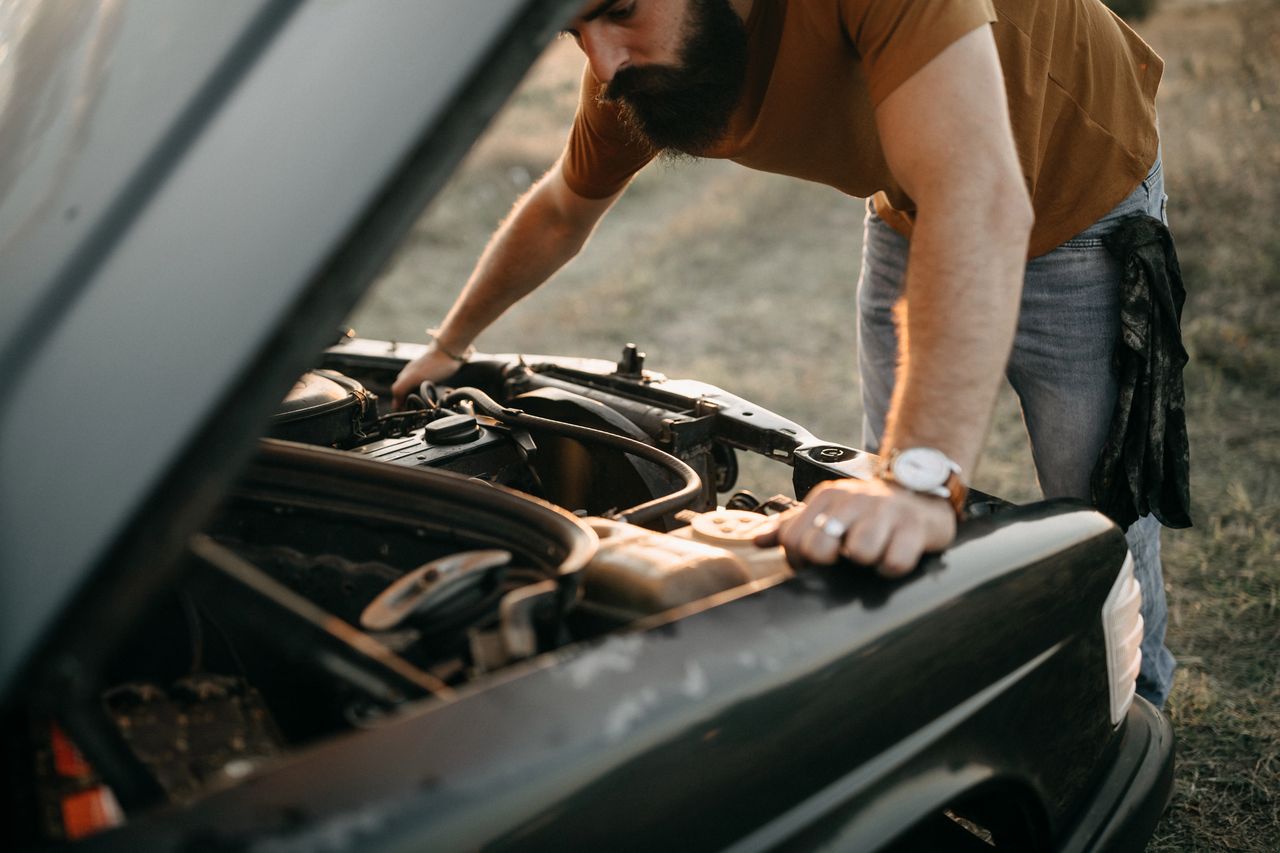
[[[755,512],[704,512],[687,528],[667,534],[589,519],[600,547],[584,570],[585,596],[598,605],[649,615],[790,574],[782,548],[751,544],[767,521]]]

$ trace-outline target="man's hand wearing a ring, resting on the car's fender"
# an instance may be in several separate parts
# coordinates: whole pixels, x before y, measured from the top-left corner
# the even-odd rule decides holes
[[[755,544],[781,544],[792,566],[826,566],[844,557],[900,578],[955,535],[956,516],[945,498],[884,480],[831,480],[814,487],[803,506],[780,515]]]

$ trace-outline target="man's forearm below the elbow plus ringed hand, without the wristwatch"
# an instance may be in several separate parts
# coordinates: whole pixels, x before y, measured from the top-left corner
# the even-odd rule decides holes
[[[996,182],[965,177],[928,195],[913,231],[900,305],[904,360],[881,452],[934,447],[972,471],[1018,324],[1032,213],[1012,172]],[[782,544],[795,565],[845,557],[896,578],[955,534],[947,501],[882,479],[846,479],[820,483],[756,544]]]

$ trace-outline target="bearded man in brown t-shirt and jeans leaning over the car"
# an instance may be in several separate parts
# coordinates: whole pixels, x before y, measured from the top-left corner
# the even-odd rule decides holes
[[[1098,0],[591,0],[567,32],[586,69],[566,151],[397,400],[448,378],[655,155],[730,158],[870,199],[859,362],[882,476],[814,489],[760,544],[888,576],[945,548],[1006,368],[1046,496],[1089,497],[1116,396],[1117,272],[1098,234],[1164,201],[1161,60]],[[1129,539],[1139,692],[1160,704],[1158,528]]]

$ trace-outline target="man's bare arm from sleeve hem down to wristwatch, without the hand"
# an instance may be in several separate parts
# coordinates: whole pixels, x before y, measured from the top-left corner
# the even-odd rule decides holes
[[[937,447],[972,471],[1014,341],[1033,219],[991,31],[948,47],[876,119],[918,209],[882,452]]]

